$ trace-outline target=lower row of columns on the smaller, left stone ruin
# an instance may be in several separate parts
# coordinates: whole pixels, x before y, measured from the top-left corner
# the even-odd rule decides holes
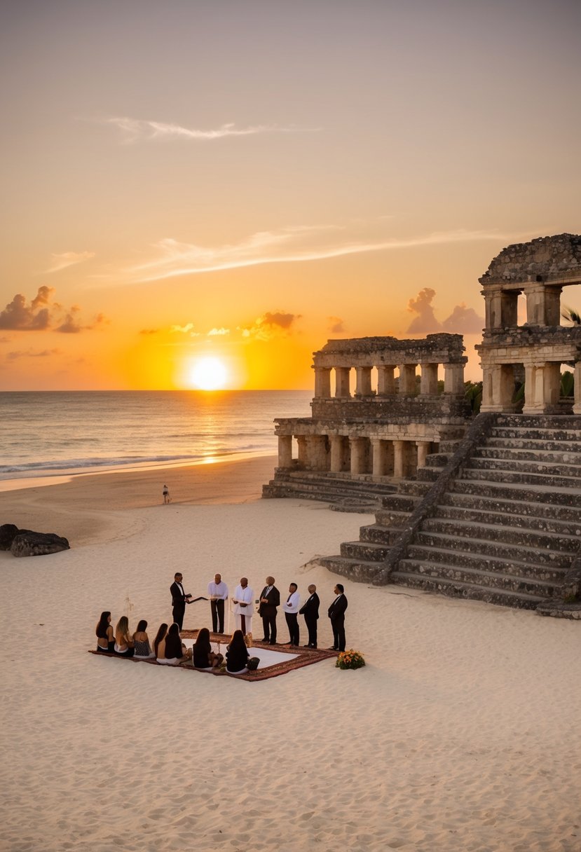
[[[347,435],[297,435],[300,469],[401,479],[425,466],[429,440],[385,440]],[[279,435],[279,468],[291,468],[292,435]]]

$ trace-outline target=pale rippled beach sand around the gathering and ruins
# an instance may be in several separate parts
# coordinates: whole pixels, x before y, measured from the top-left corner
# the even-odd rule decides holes
[[[372,518],[259,499],[272,469],[260,458],[0,494],[0,522],[72,544],[0,553],[0,847],[578,852],[578,622],[343,581],[360,671],[327,660],[251,683],[87,653],[102,609],[154,634],[178,570],[194,596],[216,572],[230,590],[244,574],[255,592],[270,573],[281,592],[315,583],[330,645],[342,579],[312,561]],[[209,624],[208,603],[187,607],[185,627]]]

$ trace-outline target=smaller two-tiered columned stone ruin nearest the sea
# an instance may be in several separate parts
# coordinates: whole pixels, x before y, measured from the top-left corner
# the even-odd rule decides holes
[[[464,433],[463,351],[457,334],[326,343],[314,353],[312,417],[275,421],[279,464],[264,496],[365,508],[393,492]]]

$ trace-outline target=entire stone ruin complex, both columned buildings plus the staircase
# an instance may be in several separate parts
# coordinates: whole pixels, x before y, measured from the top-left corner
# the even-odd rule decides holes
[[[348,579],[581,618],[581,237],[510,245],[480,283],[480,414],[457,335],[330,341],[314,354],[313,416],[276,421],[264,495],[375,505],[359,541],[319,559]]]

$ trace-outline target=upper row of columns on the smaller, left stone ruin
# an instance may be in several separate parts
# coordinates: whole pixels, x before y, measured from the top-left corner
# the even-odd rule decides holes
[[[421,364],[420,394],[438,393],[438,364]],[[314,366],[315,397],[331,398],[331,370],[335,370],[335,396],[348,399],[351,396],[350,374],[353,367]],[[416,393],[417,364],[382,364],[377,366],[377,392],[371,388],[371,370],[373,366],[357,366],[355,396],[392,396],[400,394],[411,396]],[[395,370],[400,371],[398,385],[395,384]],[[444,365],[444,393],[463,394],[464,365]]]

